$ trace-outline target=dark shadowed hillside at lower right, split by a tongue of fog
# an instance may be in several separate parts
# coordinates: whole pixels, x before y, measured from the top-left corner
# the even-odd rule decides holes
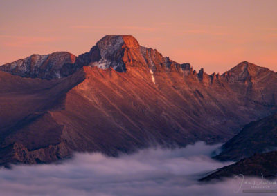
[[[235,175],[265,178],[277,177],[277,113],[242,128],[238,135],[222,146],[222,152],[215,156],[220,161],[238,161],[220,168],[200,179],[211,181]]]

